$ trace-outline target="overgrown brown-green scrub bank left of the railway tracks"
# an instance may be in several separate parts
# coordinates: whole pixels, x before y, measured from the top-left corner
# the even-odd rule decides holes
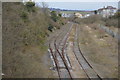
[[[54,21],[47,8],[37,7],[34,2],[3,3],[4,77],[46,76],[48,73],[42,75],[42,71],[48,72],[46,69],[49,68],[41,63],[43,53],[47,51],[46,38],[65,21],[61,17]]]

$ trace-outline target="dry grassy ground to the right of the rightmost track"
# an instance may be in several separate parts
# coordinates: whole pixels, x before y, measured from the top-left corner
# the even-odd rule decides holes
[[[91,28],[91,33],[89,33],[89,28],[81,25],[80,30],[80,47],[85,57],[101,76],[116,78],[118,76],[118,54],[115,39],[108,36],[103,38],[105,41],[102,41],[100,38],[94,37],[94,35],[101,35],[98,29]],[[105,35],[105,33],[102,33],[102,35]]]

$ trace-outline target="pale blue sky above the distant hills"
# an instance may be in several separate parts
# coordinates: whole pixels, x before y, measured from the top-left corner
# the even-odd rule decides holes
[[[47,2],[49,8],[70,10],[97,10],[104,6],[118,8],[118,2]]]

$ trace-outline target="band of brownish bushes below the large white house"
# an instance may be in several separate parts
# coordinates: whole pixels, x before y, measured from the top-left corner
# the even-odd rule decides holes
[[[93,23],[100,23],[105,26],[111,27],[119,27],[118,26],[118,20],[120,18],[120,12],[117,12],[114,16],[111,16],[109,18],[103,18],[100,15],[93,15],[87,18],[76,18],[75,22],[79,24],[93,24]]]

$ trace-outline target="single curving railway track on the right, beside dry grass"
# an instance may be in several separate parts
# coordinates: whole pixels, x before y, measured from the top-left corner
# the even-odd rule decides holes
[[[82,51],[80,50],[79,38],[78,38],[79,31],[80,31],[79,27],[76,26],[76,34],[73,43],[74,45],[73,52],[75,54],[75,57],[78,63],[80,64],[80,66],[82,67],[82,69],[84,70],[85,74],[87,75],[88,79],[92,80],[96,78],[97,80],[102,80],[100,75],[97,74],[97,72],[94,70],[92,65],[88,62],[88,60],[85,58]]]

